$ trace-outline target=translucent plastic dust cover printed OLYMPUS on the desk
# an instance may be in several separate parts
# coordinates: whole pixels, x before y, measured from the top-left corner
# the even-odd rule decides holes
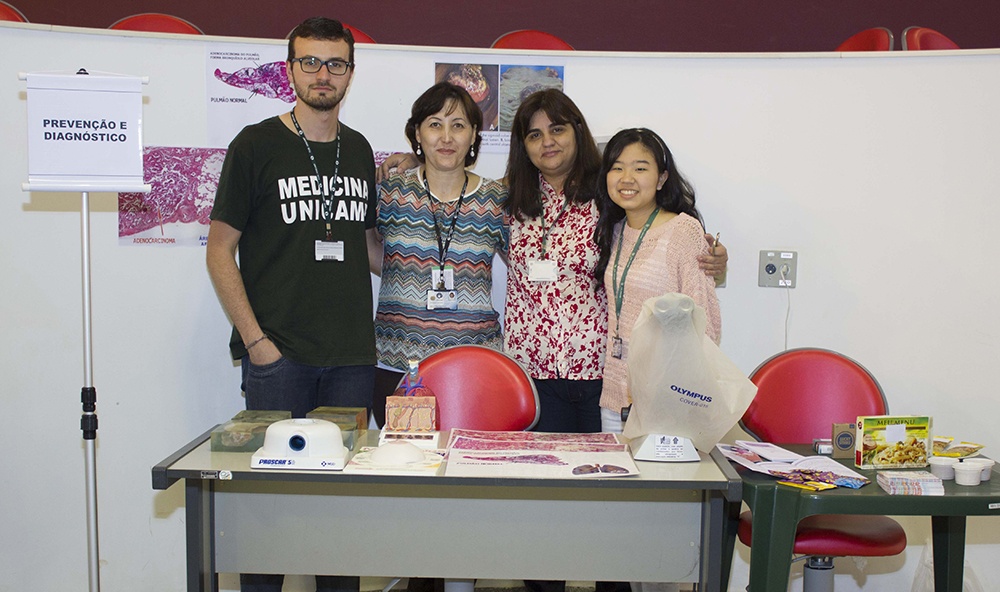
[[[627,438],[682,436],[709,452],[750,406],[756,385],[705,335],[706,322],[683,294],[643,303],[629,344]]]

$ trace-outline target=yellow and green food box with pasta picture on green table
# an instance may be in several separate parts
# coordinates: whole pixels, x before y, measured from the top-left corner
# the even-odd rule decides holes
[[[926,467],[931,418],[877,415],[858,418],[854,464],[862,469]]]

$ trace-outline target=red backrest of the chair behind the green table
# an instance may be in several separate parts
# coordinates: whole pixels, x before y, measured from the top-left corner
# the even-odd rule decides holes
[[[812,444],[814,438],[829,438],[834,423],[888,412],[875,377],[854,360],[825,349],[772,356],[750,380],[757,385],[757,396],[740,426],[764,442]]]

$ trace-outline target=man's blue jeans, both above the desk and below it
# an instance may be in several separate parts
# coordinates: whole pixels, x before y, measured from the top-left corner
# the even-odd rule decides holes
[[[375,366],[317,367],[288,358],[257,366],[244,356],[241,367],[247,409],[280,409],[291,411],[292,417],[305,417],[322,406],[369,410],[372,406]],[[240,590],[281,592],[284,579],[281,574],[240,574]],[[316,576],[317,592],[357,592],[360,587],[356,576]]]

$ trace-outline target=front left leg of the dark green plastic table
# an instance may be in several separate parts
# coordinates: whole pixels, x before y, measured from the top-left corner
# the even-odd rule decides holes
[[[789,487],[775,487],[753,499],[750,592],[788,590],[798,507],[799,492]]]

